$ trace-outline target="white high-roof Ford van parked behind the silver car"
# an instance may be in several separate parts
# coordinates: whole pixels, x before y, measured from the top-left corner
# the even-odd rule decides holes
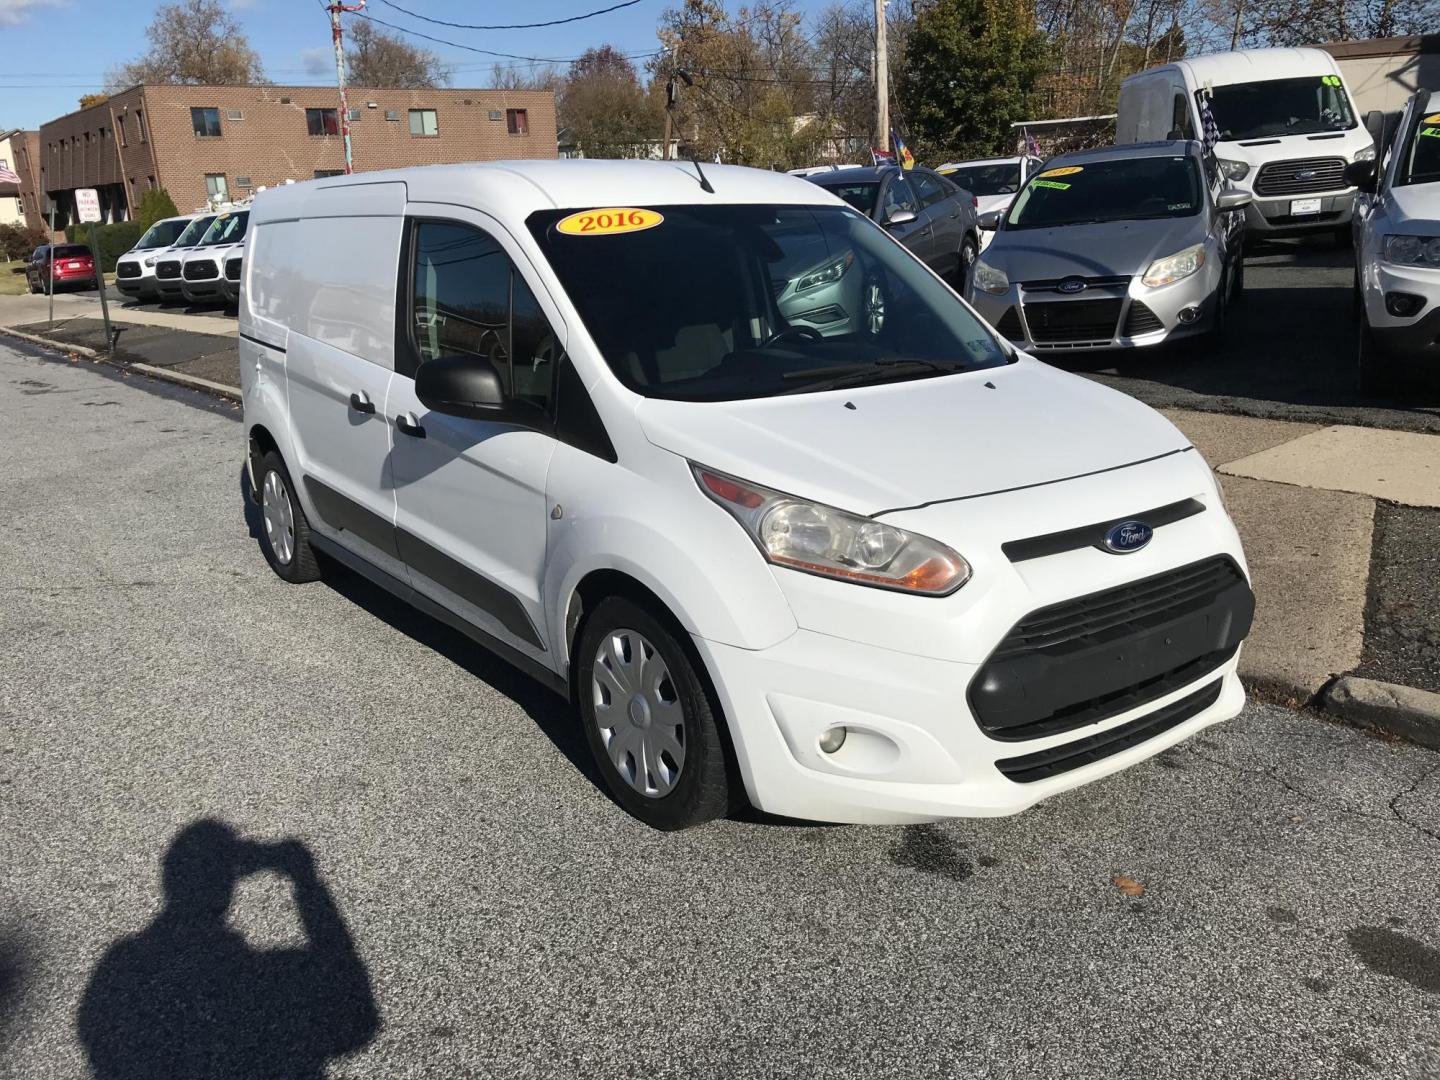
[[[1335,58],[1244,49],[1151,68],[1120,85],[1115,141],[1202,138],[1201,96],[1220,131],[1221,170],[1254,196],[1250,238],[1333,232],[1348,243],[1355,189],[1345,166],[1374,158],[1375,144]]]

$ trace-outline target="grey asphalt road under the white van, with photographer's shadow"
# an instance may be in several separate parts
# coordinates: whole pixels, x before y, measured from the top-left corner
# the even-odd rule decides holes
[[[662,835],[279,582],[228,406],[0,344],[0,416],[3,1077],[1440,1074],[1434,753],[1251,707],[1012,819]]]

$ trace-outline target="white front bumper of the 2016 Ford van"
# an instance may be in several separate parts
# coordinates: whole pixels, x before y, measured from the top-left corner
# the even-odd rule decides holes
[[[945,599],[776,570],[799,631],[756,651],[696,639],[752,802],[786,816],[873,824],[1015,814],[1236,716],[1244,703],[1238,639],[1253,598],[1212,490],[1191,500],[1208,500],[1204,510],[1158,524],[1133,554],[1089,541],[1040,552],[1031,543],[1025,553],[1014,546],[1143,517],[1198,487],[1202,468],[1188,451],[1129,467],[1122,482],[1089,477],[1045,497],[1020,491],[884,516],[953,539],[971,559],[975,576]],[[1093,641],[1037,644],[1009,664],[1015,634],[1056,618],[1057,605],[1099,603],[1210,563],[1238,572],[1218,606],[1166,608],[1145,615],[1143,626],[1128,609]],[[1171,593],[1156,595],[1169,603]],[[1076,703],[1067,693],[1097,697]],[[821,734],[837,724],[848,734],[825,753]]]

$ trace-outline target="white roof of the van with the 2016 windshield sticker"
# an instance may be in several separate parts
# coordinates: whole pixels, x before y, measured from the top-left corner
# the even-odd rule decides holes
[[[818,184],[785,173],[742,166],[701,164],[714,187],[700,186],[693,161],[469,161],[416,166],[377,173],[307,180],[255,196],[255,225],[307,216],[314,199],[323,212],[324,192],[337,187],[403,183],[410,202],[459,203],[495,216],[520,219],[536,210],[592,206],[674,206],[684,203],[842,204]]]

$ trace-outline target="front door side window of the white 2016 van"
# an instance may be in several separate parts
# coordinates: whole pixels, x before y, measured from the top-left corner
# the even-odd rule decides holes
[[[511,397],[547,409],[557,343],[550,323],[504,249],[480,229],[415,226],[410,327],[419,361],[480,356]]]

